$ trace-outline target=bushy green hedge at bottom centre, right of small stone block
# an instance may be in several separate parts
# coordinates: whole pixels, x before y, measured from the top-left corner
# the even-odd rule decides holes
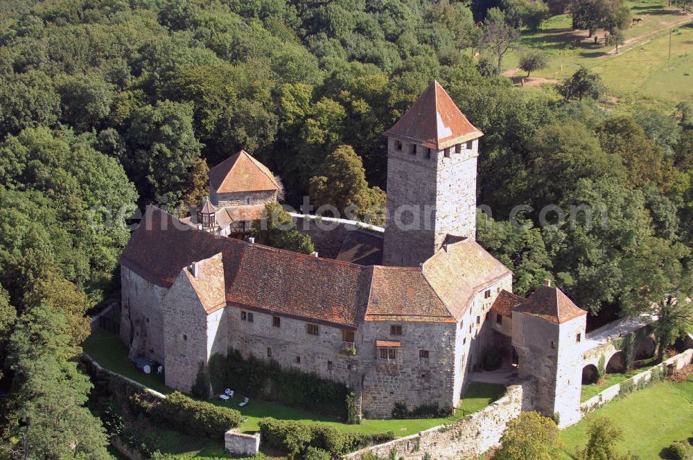
[[[324,423],[279,421],[261,418],[258,421],[261,439],[270,448],[286,450],[290,454],[304,453],[308,448],[325,450],[332,457],[353,452],[367,445],[394,439],[394,432],[363,434],[342,433]]]

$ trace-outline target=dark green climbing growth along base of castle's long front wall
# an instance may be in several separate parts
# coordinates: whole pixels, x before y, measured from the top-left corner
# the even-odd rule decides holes
[[[274,360],[252,355],[244,358],[230,349],[226,356],[211,356],[209,380],[215,393],[230,388],[249,398],[279,401],[311,412],[348,418],[347,396],[351,390],[346,385],[319,378],[314,373],[283,369]]]

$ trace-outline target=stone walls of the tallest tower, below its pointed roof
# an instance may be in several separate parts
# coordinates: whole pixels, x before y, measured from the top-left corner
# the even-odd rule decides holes
[[[418,267],[448,233],[475,238],[478,141],[471,147],[446,156],[388,139],[383,265]]]

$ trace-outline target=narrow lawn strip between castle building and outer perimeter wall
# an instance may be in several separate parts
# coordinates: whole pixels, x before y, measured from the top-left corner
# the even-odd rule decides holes
[[[87,339],[84,345],[85,352],[94,358],[98,364],[121,375],[125,375],[136,382],[146,385],[161,393],[170,393],[172,389],[164,385],[164,378],[161,375],[146,375],[130,366],[128,361],[128,349],[120,339],[104,330],[96,332]],[[266,403],[263,401],[252,400],[245,407],[238,407],[242,399],[236,396],[228,403],[219,399],[210,402],[216,405],[227,405],[238,409],[247,419],[240,425],[243,432],[255,432],[258,430],[258,420],[263,417],[274,417],[280,420],[298,420],[306,422],[324,422],[337,427],[342,432],[361,432],[361,433],[382,433],[392,431],[396,436],[407,436],[418,433],[421,430],[454,421],[457,418],[477,412],[497,400],[505,392],[505,387],[498,384],[472,383],[462,400],[462,410],[457,410],[454,416],[446,418],[421,418],[413,420],[366,420],[360,425],[347,425],[338,421],[336,418],[322,416],[306,412],[301,409],[294,409],[278,403]]]

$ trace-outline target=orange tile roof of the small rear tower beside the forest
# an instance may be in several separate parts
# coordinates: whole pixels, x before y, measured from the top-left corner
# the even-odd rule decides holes
[[[209,170],[209,184],[216,193],[274,191],[274,175],[245,150],[240,150]]]

